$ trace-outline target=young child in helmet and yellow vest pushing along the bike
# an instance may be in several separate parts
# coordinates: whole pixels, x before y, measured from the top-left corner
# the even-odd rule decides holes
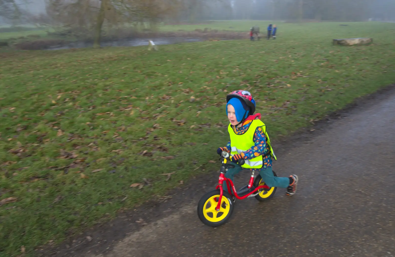
[[[255,112],[255,100],[251,93],[236,90],[226,96],[226,112],[228,114],[228,132],[230,141],[226,147],[217,149],[218,155],[222,151],[231,153],[232,162],[240,159],[245,160],[241,167],[255,169],[261,175],[265,184],[269,187],[287,188],[286,194],[292,196],[296,192],[298,177],[275,177],[272,171],[272,157],[277,160],[270,145],[270,139],[266,132],[266,125],[260,120],[261,114]],[[233,181],[234,175],[239,173],[237,169],[229,169],[225,177]],[[224,186],[224,190],[228,191]],[[233,201],[234,201],[233,197]]]

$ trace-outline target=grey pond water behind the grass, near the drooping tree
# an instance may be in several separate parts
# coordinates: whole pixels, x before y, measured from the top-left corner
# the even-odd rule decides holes
[[[100,45],[102,47],[138,47],[138,46],[148,46],[149,39],[119,39],[115,41],[105,41]],[[203,41],[201,38],[190,38],[190,37],[162,37],[162,38],[152,38],[155,45],[169,45],[177,43],[190,43]],[[69,48],[84,48],[92,47],[93,43],[86,42],[71,42],[65,45],[56,45],[47,48],[47,50],[59,50],[59,49],[69,49]]]

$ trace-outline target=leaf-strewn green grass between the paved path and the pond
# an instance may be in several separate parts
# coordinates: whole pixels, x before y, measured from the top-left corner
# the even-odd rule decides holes
[[[21,246],[34,256],[218,169],[210,161],[228,142],[232,90],[254,94],[278,138],[393,83],[394,32],[378,22],[282,24],[270,41],[0,54],[0,256]],[[366,36],[374,45],[331,46]]]

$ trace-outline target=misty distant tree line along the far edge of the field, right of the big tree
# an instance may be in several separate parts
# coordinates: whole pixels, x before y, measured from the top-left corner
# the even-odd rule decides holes
[[[395,20],[395,0],[184,0],[181,20]]]

